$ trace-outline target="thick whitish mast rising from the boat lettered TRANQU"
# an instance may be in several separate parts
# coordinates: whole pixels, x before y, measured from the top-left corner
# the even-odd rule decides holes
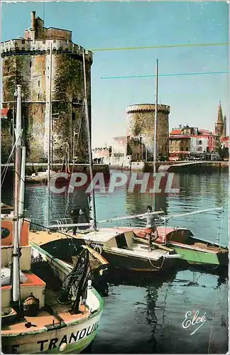
[[[14,165],[14,206],[13,206],[13,254],[12,254],[12,301],[20,308],[20,280],[19,280],[19,245],[18,245],[18,199],[21,175],[21,85],[17,85],[17,113],[16,113],[16,152]]]

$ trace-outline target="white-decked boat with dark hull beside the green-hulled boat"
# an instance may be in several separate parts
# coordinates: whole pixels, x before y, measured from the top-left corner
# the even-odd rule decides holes
[[[179,253],[164,246],[156,246],[149,251],[148,245],[137,241],[133,229],[121,231],[102,228],[77,235],[76,239],[77,237],[84,239],[89,246],[102,253],[111,266],[116,268],[160,272],[170,268],[177,258],[180,258]]]

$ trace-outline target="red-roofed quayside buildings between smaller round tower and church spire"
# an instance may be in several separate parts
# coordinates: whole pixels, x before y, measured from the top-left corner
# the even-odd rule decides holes
[[[213,153],[217,151],[217,136],[211,131],[188,125],[170,132],[170,158],[185,159],[191,153]]]

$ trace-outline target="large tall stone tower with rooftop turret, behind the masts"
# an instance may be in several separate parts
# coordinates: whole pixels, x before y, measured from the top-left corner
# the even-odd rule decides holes
[[[72,31],[45,28],[43,20],[36,17],[34,11],[31,13],[31,28],[24,31],[24,38],[1,43],[3,107],[13,109],[13,93],[16,84],[21,84],[23,126],[30,161],[47,161],[49,124],[53,162],[62,160],[66,143],[72,160],[74,138],[77,156],[82,161],[87,160],[83,50],[80,45],[72,43]],[[92,52],[85,51],[85,61],[91,122]]]

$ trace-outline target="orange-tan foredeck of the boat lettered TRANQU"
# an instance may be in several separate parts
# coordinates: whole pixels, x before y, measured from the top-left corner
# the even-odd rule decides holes
[[[41,309],[36,317],[21,317],[9,324],[1,324],[1,335],[36,332],[40,329],[48,329],[49,327],[57,327],[62,324],[70,324],[76,320],[80,320],[89,315],[89,310],[84,305],[80,305],[80,313],[71,315],[71,304],[63,305],[57,301],[58,294],[52,290],[45,290],[45,307],[47,310]],[[49,307],[52,307],[53,314]],[[26,327],[28,322],[31,327]]]

